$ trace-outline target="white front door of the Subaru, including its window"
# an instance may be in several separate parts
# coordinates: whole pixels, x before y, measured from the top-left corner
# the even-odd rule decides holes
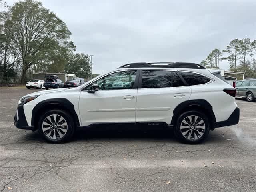
[[[79,99],[82,125],[135,122],[137,74],[137,70],[108,74],[92,83],[99,86],[95,93],[88,93],[92,84],[86,86]]]

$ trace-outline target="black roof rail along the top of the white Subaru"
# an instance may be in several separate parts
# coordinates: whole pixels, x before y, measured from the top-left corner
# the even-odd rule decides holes
[[[160,65],[164,64],[164,65]],[[159,67],[159,68],[190,68],[190,69],[206,69],[204,66],[196,63],[183,62],[158,62],[158,63],[128,63],[119,68],[143,68],[143,67]]]

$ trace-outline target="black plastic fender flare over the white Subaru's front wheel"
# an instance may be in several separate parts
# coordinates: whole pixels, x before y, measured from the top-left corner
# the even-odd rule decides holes
[[[75,107],[66,98],[46,99],[36,104],[36,106],[32,110],[31,126],[37,126],[36,122],[38,120],[38,113],[45,111],[47,109],[54,108],[64,109],[67,112],[69,112],[74,118],[74,123],[76,124],[75,126],[80,126],[78,114],[76,114]]]

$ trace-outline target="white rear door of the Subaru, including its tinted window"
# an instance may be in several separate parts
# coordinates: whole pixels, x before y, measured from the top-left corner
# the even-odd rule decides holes
[[[189,99],[191,89],[176,71],[141,70],[136,122],[170,124],[174,108]]]

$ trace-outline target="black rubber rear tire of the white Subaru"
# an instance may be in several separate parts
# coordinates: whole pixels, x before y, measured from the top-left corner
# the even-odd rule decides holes
[[[201,120],[203,120],[204,122],[204,130],[201,128],[201,126],[193,126],[193,119],[192,119],[192,124],[191,126],[189,126],[188,128],[183,128],[182,130],[183,133],[185,134],[186,132],[188,133],[185,134],[185,136],[183,136],[182,134],[182,130],[181,130],[181,125],[183,124],[182,121],[184,121],[185,119],[190,121],[188,118],[188,116],[198,116]],[[200,120],[198,119],[198,120]],[[185,120],[185,121],[186,121]],[[196,124],[196,117],[194,118],[194,124]],[[185,125],[185,124],[184,124]],[[198,124],[198,125],[202,125],[202,124]],[[186,125],[185,125],[186,126]],[[193,128],[192,128],[193,127]],[[194,128],[195,127],[195,128]],[[193,130],[194,131],[193,131]],[[203,131],[203,133],[201,134],[200,136],[200,133],[198,130],[200,131]],[[198,144],[200,142],[202,142],[203,140],[205,140],[207,137],[208,137],[208,134],[210,132],[210,127],[209,127],[209,121],[208,121],[208,117],[206,115],[204,115],[202,112],[200,111],[196,111],[196,110],[191,110],[191,111],[187,111],[187,112],[184,112],[182,113],[178,119],[177,119],[177,122],[176,122],[176,125],[175,125],[175,128],[174,128],[174,131],[175,131],[175,136],[183,143],[186,143],[186,144]],[[190,132],[191,132],[191,135],[190,135]],[[194,139],[193,139],[193,134],[196,134],[194,135]],[[186,138],[186,136],[190,137],[190,139]],[[198,138],[196,138],[198,137]]]

